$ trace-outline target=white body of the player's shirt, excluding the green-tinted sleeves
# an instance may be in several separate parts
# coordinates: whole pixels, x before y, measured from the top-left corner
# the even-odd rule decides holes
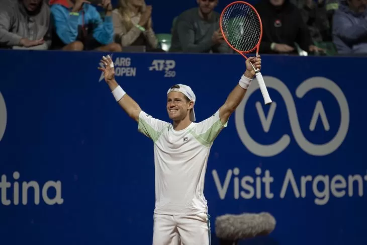
[[[155,142],[156,212],[205,210],[203,189],[210,147],[195,135],[195,124],[181,131],[168,127]]]

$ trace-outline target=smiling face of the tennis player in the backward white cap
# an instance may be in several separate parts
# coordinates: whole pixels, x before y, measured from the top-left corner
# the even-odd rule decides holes
[[[167,112],[173,121],[184,119],[193,108],[193,102],[188,102],[181,92],[172,91],[167,96]]]

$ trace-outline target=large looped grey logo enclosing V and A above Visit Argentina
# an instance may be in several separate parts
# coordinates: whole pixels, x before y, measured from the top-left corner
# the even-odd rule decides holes
[[[300,99],[302,99],[309,91],[313,89],[324,89],[328,91],[331,95],[333,95],[338,102],[338,107],[340,110],[340,125],[338,131],[329,142],[323,144],[313,144],[312,142],[307,140],[302,133],[297,115],[296,105],[293,100],[292,94],[288,90],[287,86],[276,77],[264,76],[264,80],[266,83],[266,87],[277,90],[283,97],[283,100],[286,104],[293,136],[297,144],[302,148],[303,151],[310,155],[324,156],[334,152],[343,143],[349,128],[349,107],[343,92],[332,80],[325,77],[311,77],[303,81],[303,83],[301,83],[296,89],[296,96]],[[263,145],[254,141],[251,138],[244,122],[246,102],[248,101],[248,98],[251,96],[251,94],[255,92],[258,88],[259,87],[257,83],[252,83],[246,93],[245,98],[238,106],[235,113],[236,129],[242,143],[253,154],[256,154],[258,156],[274,156],[281,153],[288,147],[291,142],[291,137],[288,134],[284,134],[277,142]],[[277,103],[273,102],[270,105],[267,118],[265,118],[260,102],[256,103],[256,109],[259,113],[259,118],[265,132],[267,132],[270,128],[276,107]],[[316,107],[310,121],[310,130],[315,129],[318,117],[321,118],[325,130],[329,130],[329,122],[327,120],[326,113],[321,101],[317,101],[316,103]]]

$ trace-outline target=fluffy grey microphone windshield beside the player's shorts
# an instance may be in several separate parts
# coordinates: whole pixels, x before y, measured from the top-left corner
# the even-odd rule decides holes
[[[275,226],[276,219],[266,212],[226,214],[218,216],[215,220],[217,237],[232,241],[267,235]]]

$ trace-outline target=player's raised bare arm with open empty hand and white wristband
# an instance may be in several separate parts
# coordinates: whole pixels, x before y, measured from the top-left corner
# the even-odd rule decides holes
[[[109,86],[115,100],[129,115],[129,117],[134,119],[136,122],[139,122],[141,108],[138,103],[136,103],[128,94],[126,94],[126,92],[115,80],[115,68],[111,57],[109,55],[107,55],[107,58],[103,56],[101,62],[105,65],[105,67],[98,67],[98,69],[104,72],[106,83]]]

